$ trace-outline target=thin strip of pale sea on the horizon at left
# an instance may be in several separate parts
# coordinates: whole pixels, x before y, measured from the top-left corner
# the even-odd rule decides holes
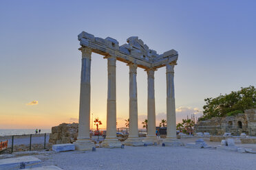
[[[39,132],[39,129],[38,129]],[[14,130],[0,130],[0,136],[10,136],[10,135],[23,135],[23,134],[35,134],[36,130],[23,130],[23,129],[14,129]],[[41,134],[51,133],[51,130],[41,129]]]

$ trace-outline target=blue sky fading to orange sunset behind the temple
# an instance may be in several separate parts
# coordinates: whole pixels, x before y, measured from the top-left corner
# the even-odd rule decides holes
[[[256,2],[0,1],[0,129],[50,129],[78,120],[82,31],[119,45],[138,36],[159,54],[179,53],[177,122],[200,116],[204,99],[256,86]],[[91,112],[107,118],[107,60],[92,54]],[[156,125],[166,119],[165,68],[155,73]],[[117,62],[117,121],[129,117],[129,67]],[[139,127],[147,73],[138,69]]]

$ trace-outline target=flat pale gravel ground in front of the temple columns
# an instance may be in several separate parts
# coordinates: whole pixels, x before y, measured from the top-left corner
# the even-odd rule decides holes
[[[256,154],[185,147],[97,148],[36,155],[42,166],[62,169],[255,169]]]

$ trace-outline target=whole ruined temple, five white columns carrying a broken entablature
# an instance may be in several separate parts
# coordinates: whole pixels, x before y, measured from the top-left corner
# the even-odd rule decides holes
[[[81,95],[79,109],[78,140],[76,149],[92,149],[94,143],[89,139],[90,120],[90,76],[92,52],[98,53],[107,59],[107,136],[103,142],[104,147],[120,147],[116,139],[116,60],[127,63],[129,66],[129,138],[127,144],[139,145],[138,139],[138,102],[137,102],[137,68],[147,71],[147,139],[156,140],[156,109],[154,73],[158,68],[165,66],[167,75],[167,140],[176,138],[175,97],[174,97],[174,66],[177,64],[178,52],[174,49],[158,54],[140,40],[137,36],[127,38],[127,44],[107,37],[105,39],[94,37],[92,34],[82,32],[78,35],[82,52]]]

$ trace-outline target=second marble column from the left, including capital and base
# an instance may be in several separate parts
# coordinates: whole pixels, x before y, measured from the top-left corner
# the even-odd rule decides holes
[[[121,147],[116,138],[116,57],[107,58],[107,136],[103,147]]]

